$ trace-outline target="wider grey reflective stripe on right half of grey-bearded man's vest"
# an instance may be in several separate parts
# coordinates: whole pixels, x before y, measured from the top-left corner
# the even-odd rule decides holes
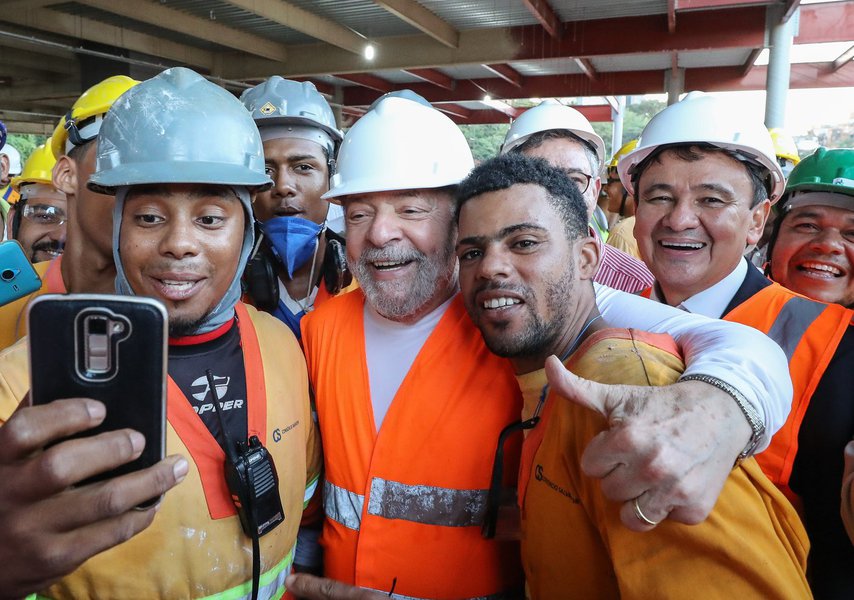
[[[407,485],[374,477],[368,514],[424,525],[470,527],[483,522],[487,490]]]

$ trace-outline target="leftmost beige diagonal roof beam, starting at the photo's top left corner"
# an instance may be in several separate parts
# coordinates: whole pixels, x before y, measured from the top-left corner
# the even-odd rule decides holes
[[[0,20],[116,48],[126,48],[206,70],[211,70],[214,65],[214,55],[207,50],[49,8],[3,12],[0,14]]]

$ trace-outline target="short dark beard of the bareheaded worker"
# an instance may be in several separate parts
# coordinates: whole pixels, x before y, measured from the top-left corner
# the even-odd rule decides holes
[[[529,356],[537,356],[544,352],[558,352],[561,349],[555,348],[555,344],[563,334],[566,327],[566,319],[570,316],[570,298],[573,296],[574,283],[573,270],[568,271],[557,281],[552,281],[546,286],[546,305],[552,314],[551,321],[545,321],[541,315],[534,312],[534,297],[531,290],[522,286],[513,285],[489,285],[481,288],[490,290],[512,290],[520,295],[528,307],[528,318],[524,323],[524,329],[518,334],[510,334],[506,328],[510,323],[505,323],[504,326],[498,325],[497,328],[484,330],[480,323],[475,319],[475,324],[481,331],[483,341],[490,352],[504,358],[523,358]],[[478,314],[483,308],[478,310]],[[471,310],[469,310],[471,314]],[[502,331],[503,330],[503,331]]]

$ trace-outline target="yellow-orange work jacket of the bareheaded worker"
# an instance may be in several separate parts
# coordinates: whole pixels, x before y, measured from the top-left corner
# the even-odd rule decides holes
[[[683,370],[672,338],[626,329],[592,334],[566,366],[591,381],[634,385],[667,385]],[[545,369],[518,379],[528,418],[547,383]],[[525,438],[519,476],[530,598],[810,597],[806,531],[752,458],[732,470],[699,525],[668,520],[635,533],[620,520],[623,504],[606,499],[581,469],[607,419],[554,392],[540,416]]]

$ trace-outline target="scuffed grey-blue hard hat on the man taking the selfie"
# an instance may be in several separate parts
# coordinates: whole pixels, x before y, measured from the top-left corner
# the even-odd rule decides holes
[[[266,189],[264,149],[243,105],[184,67],[167,69],[129,89],[98,133],[89,189],[206,183]]]

